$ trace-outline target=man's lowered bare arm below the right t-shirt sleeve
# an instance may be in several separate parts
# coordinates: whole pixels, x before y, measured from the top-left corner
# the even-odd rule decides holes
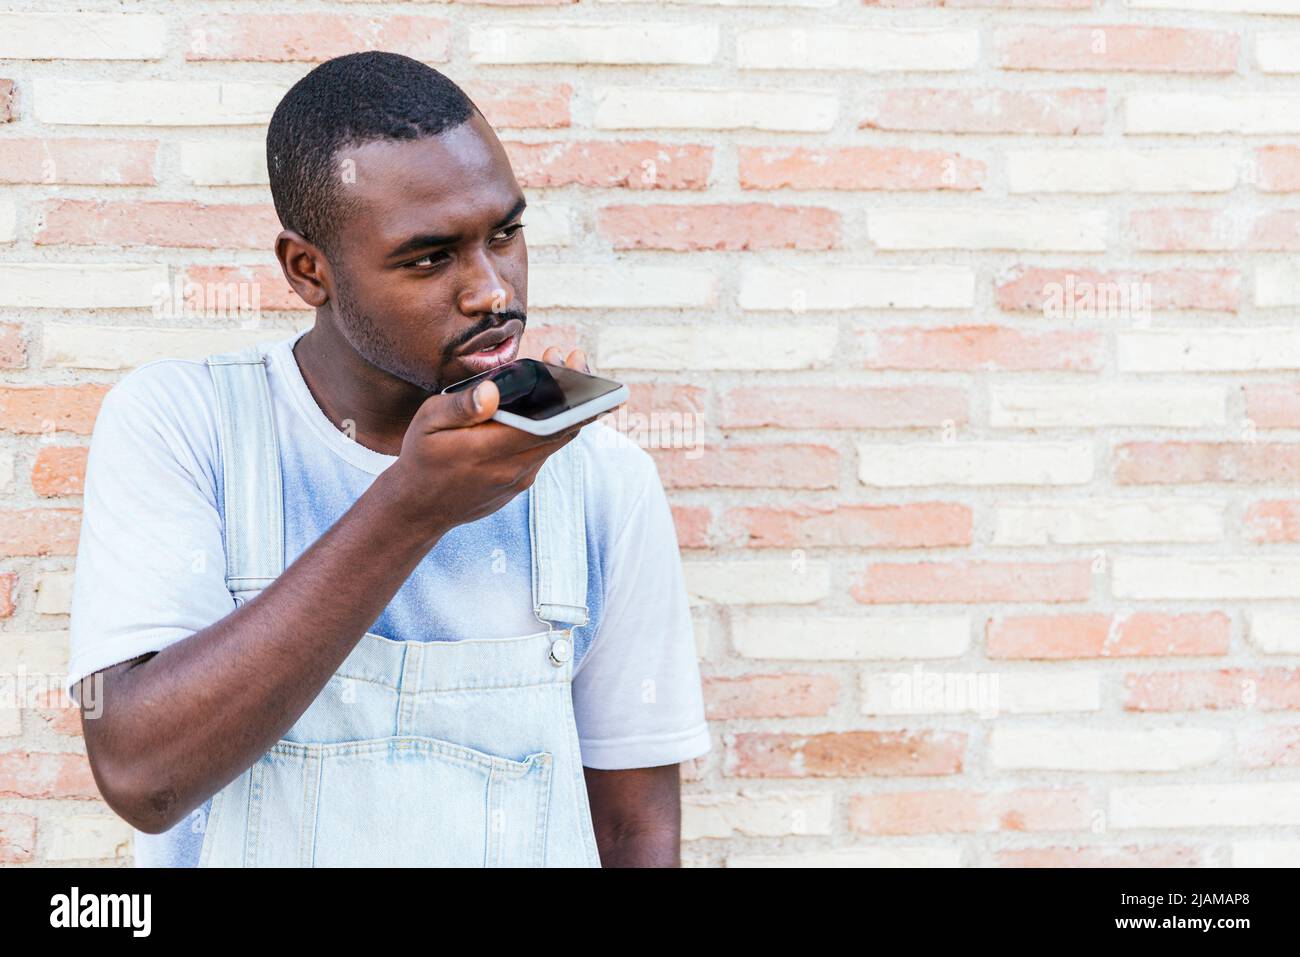
[[[582,768],[602,867],[681,866],[679,767]]]

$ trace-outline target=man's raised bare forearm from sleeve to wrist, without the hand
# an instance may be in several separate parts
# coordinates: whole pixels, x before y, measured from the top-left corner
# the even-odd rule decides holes
[[[386,475],[254,601],[105,672],[86,748],[131,824],[172,827],[272,748],[437,542]]]

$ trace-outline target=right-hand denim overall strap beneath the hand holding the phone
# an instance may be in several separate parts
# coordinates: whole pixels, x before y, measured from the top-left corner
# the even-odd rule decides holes
[[[533,612],[546,624],[588,622],[586,497],[577,443],[573,439],[551,455],[528,489]]]

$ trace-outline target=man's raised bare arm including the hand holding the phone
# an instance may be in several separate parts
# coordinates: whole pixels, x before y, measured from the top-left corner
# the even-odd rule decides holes
[[[82,689],[91,771],[117,814],[157,833],[234,780],[292,727],[442,534],[525,490],[585,424],[529,436],[486,421],[488,391],[478,411],[468,391],[432,397],[398,462],[252,601],[99,672],[98,718]]]

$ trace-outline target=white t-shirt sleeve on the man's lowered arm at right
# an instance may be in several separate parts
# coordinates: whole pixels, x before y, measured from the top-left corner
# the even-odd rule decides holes
[[[642,492],[610,546],[597,633],[573,676],[582,763],[598,770],[675,765],[710,749],[672,510],[654,460],[644,464]]]

